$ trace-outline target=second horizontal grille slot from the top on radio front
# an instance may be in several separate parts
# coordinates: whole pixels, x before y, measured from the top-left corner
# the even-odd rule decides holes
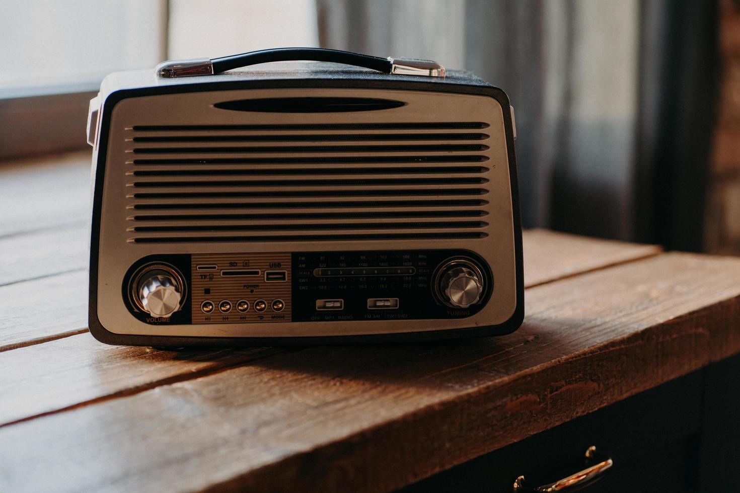
[[[304,135],[161,135],[134,142],[332,142],[344,140],[485,140],[486,134],[304,134]]]

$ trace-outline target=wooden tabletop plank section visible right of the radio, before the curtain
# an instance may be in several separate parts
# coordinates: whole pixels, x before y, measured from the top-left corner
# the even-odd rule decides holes
[[[524,285],[528,288],[661,252],[658,245],[579,237],[547,229],[525,231],[523,244]]]

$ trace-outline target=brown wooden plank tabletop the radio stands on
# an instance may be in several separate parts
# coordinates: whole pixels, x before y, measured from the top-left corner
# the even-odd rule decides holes
[[[0,167],[2,492],[396,489],[740,352],[740,259],[542,230],[510,336],[100,344],[87,159]]]

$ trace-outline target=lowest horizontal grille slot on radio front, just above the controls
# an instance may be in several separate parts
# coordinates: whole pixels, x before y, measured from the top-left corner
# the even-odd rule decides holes
[[[203,242],[319,242],[319,241],[369,241],[393,239],[480,239],[482,232],[454,231],[440,233],[385,233],[385,234],[300,234],[265,237],[138,237],[135,243],[203,243]]]

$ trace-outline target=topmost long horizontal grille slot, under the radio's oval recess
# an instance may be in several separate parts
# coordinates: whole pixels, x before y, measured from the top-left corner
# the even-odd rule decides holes
[[[135,125],[134,132],[187,130],[426,130],[485,129],[482,121],[428,123],[281,123],[272,125]]]

